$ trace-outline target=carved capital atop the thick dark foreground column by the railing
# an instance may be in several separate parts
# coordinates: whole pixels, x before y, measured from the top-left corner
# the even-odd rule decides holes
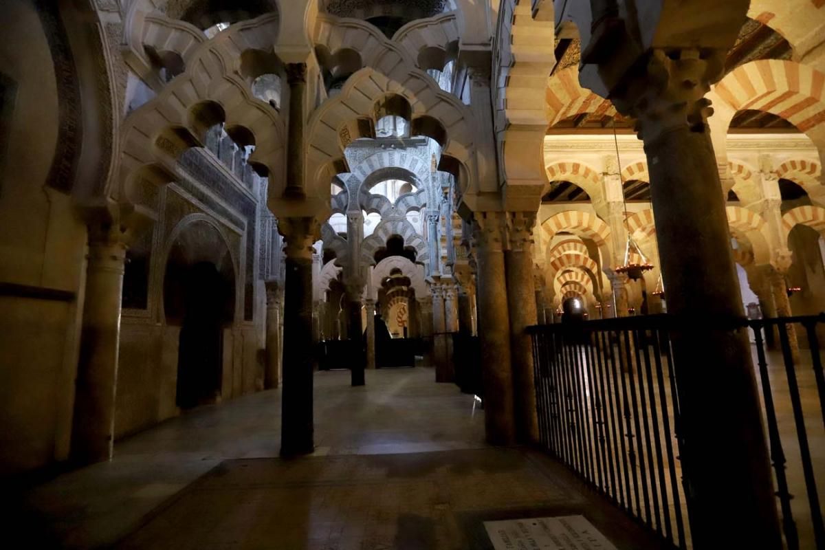
[[[610,92],[616,108],[636,119],[639,138],[651,143],[673,129],[706,129],[713,109],[705,94],[724,68],[724,51],[654,48],[646,55],[639,76]]]

